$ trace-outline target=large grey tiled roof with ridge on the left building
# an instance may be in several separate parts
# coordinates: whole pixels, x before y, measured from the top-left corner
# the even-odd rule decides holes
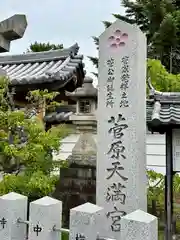
[[[82,55],[77,44],[68,49],[21,55],[0,56],[0,68],[6,71],[13,86],[59,81],[62,87],[79,70],[84,77]],[[76,79],[78,81],[78,79]]]

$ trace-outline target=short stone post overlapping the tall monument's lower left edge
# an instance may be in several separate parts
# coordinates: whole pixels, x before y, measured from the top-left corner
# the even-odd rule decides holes
[[[85,203],[70,210],[69,240],[96,240],[102,235],[103,208]]]

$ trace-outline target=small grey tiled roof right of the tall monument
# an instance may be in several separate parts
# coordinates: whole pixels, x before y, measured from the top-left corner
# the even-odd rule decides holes
[[[152,131],[164,132],[167,126],[180,125],[180,93],[159,92],[151,87],[146,116],[148,128]]]

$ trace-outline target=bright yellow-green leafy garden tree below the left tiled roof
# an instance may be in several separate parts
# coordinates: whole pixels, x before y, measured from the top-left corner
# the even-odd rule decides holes
[[[16,191],[30,197],[52,192],[54,169],[52,153],[58,151],[60,140],[68,134],[64,125],[45,131],[44,125],[30,109],[14,107],[12,90],[7,78],[0,78],[0,171],[6,175],[0,182],[0,193]],[[27,99],[37,107],[46,101],[56,106],[58,93],[35,90]],[[52,104],[51,104],[52,103]]]

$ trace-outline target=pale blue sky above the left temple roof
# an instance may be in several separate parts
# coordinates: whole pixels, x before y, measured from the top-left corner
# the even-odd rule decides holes
[[[25,14],[28,19],[23,39],[12,42],[10,53],[23,53],[35,41],[65,47],[77,42],[90,76],[94,67],[86,56],[97,55],[91,36],[104,31],[102,21],[114,20],[112,13],[123,13],[120,0],[6,0],[0,10],[1,20],[14,14]]]

